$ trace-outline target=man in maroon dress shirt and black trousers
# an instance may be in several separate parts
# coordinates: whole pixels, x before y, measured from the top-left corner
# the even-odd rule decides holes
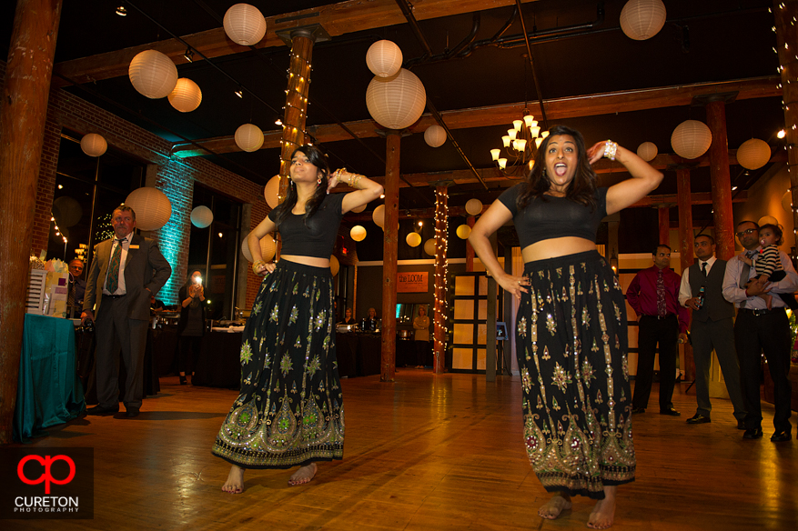
[[[660,345],[660,414],[679,416],[671,401],[676,385],[677,340],[687,340],[690,322],[687,308],[679,304],[682,277],[671,269],[671,247],[657,245],[654,265],[640,271],[626,291],[626,300],[637,314],[637,376],[631,412],[644,413],[652,394],[654,356]]]

